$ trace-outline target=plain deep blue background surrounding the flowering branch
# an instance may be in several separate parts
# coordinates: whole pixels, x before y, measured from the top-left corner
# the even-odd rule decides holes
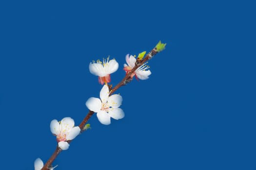
[[[166,50],[118,89],[124,119],[77,137],[57,170],[256,170],[252,1],[0,2],[1,169],[33,170],[56,147],[50,121],[99,97],[92,60]]]

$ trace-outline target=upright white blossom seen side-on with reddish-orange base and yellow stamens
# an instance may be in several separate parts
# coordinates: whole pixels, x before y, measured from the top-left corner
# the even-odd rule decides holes
[[[103,58],[103,63],[100,60],[90,63],[89,70],[92,74],[98,76],[98,82],[103,85],[111,81],[110,74],[118,70],[118,62],[115,59],[107,61]]]

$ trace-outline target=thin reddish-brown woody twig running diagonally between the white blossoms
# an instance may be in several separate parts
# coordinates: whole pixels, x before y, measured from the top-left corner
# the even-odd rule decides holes
[[[109,96],[112,95],[118,88],[120,88],[123,85],[128,84],[132,78],[131,75],[140,67],[142,66],[145,62],[147,62],[149,59],[151,59],[154,55],[156,55],[158,53],[157,49],[154,48],[152,51],[150,51],[142,60],[138,60],[136,61],[136,64],[134,66],[134,68],[129,71],[125,77],[118,83],[118,85],[116,85],[114,88],[112,88],[112,90],[109,93]],[[92,117],[92,115],[94,114],[93,111],[89,111],[89,113],[86,115],[86,117],[81,121],[81,123],[79,124],[79,128],[81,129],[81,133],[84,131],[83,128],[85,126],[85,123]],[[72,140],[69,140],[68,143],[70,143]],[[52,156],[48,159],[48,161],[45,163],[45,165],[43,166],[43,168],[41,170],[48,170],[49,167],[52,165],[53,161],[56,159],[56,157],[59,155],[59,153],[62,150],[57,146],[55,152],[52,154]]]

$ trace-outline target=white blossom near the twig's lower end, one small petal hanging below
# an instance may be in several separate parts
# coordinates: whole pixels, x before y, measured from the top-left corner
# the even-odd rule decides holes
[[[69,147],[68,140],[73,140],[80,133],[79,126],[74,127],[73,119],[67,117],[61,121],[54,119],[51,121],[50,128],[53,135],[57,137],[58,146],[62,150],[67,150]]]

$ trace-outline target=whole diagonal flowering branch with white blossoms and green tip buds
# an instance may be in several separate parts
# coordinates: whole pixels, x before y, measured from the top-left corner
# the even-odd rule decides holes
[[[51,131],[54,135],[57,136],[57,141],[59,142],[57,145],[56,150],[52,154],[52,156],[49,158],[49,160],[45,163],[43,166],[42,161],[35,161],[35,170],[53,170],[52,163],[57,158],[59,153],[62,150],[66,150],[69,147],[70,142],[79,134],[84,132],[86,130],[86,122],[92,117],[94,113],[97,112],[97,117],[99,121],[102,124],[110,124],[110,117],[114,119],[122,119],[124,117],[124,113],[122,109],[118,108],[121,104],[122,98],[120,95],[112,95],[118,88],[120,88],[123,85],[127,85],[130,83],[133,79],[133,76],[136,78],[139,78],[141,80],[145,80],[148,78],[148,76],[151,74],[149,70],[145,70],[148,67],[145,66],[145,64],[150,60],[153,56],[155,56],[158,52],[164,50],[166,44],[162,44],[161,41],[158,42],[156,47],[151,50],[145,57],[145,51],[141,52],[138,55],[138,58],[135,59],[134,56],[127,55],[126,56],[126,62],[129,66],[125,65],[124,70],[126,71],[125,77],[116,85],[114,88],[112,88],[112,85],[108,85],[107,83],[110,82],[110,74],[112,72],[115,72],[118,69],[118,63],[115,60],[110,60],[107,58],[106,60],[103,60],[103,67],[102,62],[97,61],[97,63],[93,62],[90,63],[90,72],[92,74],[95,74],[98,76],[98,81],[101,85],[104,83],[106,85],[103,86],[103,88],[100,91],[100,99],[97,98],[90,98],[86,102],[86,106],[89,108],[89,112],[86,115],[86,117],[81,121],[79,126],[74,127],[74,120],[71,118],[64,118],[60,122],[57,120],[53,120],[51,122]],[[111,65],[111,69],[107,69],[107,71],[104,70],[104,67],[106,65]],[[98,73],[98,70],[105,71],[105,74]],[[107,96],[106,96],[107,95]],[[99,103],[100,108],[96,108],[95,103]],[[116,112],[112,111],[116,109]],[[104,112],[107,112],[110,117],[106,118],[104,115],[102,115],[102,110]],[[112,112],[111,112],[112,111]],[[99,115],[98,115],[99,114]],[[61,131],[62,130],[62,131]],[[39,163],[38,163],[39,162]]]

